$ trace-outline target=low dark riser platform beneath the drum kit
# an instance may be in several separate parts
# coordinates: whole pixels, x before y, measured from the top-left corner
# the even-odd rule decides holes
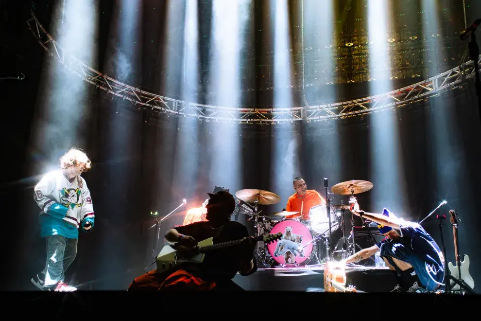
[[[397,284],[387,267],[347,266],[347,285],[358,292],[389,292]],[[236,275],[234,282],[247,291],[324,292],[324,265],[259,268],[249,276]]]

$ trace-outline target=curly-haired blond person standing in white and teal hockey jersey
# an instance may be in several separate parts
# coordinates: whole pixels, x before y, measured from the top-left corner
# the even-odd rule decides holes
[[[34,187],[34,200],[41,209],[40,236],[47,240],[45,267],[31,280],[41,290],[76,290],[64,279],[77,255],[79,227],[89,232],[94,226],[92,198],[80,176],[90,166],[86,154],[72,148],[60,158],[60,169],[47,173]]]

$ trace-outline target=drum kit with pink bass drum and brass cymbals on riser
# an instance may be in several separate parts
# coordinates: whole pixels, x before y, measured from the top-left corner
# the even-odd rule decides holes
[[[337,195],[349,195],[351,201],[354,195],[369,191],[373,186],[369,181],[349,180],[332,186],[331,192]],[[258,209],[259,205],[273,205],[281,199],[280,196],[272,192],[258,189],[244,189],[236,192],[236,197],[252,208],[252,211],[248,213],[248,216],[250,216],[248,221],[254,221],[255,236],[278,232],[283,234],[278,242],[267,245],[258,243],[255,255],[259,265],[263,267],[298,267],[323,264],[332,257],[329,250],[331,234],[341,227],[343,236],[337,242],[335,250],[341,244],[344,245],[343,249],[340,250],[343,258],[347,258],[356,252],[354,233],[358,228],[354,226],[354,214],[351,213],[351,232],[346,237],[344,211],[349,210],[349,205],[344,204],[343,201],[339,205],[330,205],[326,179],[325,187],[327,204],[310,208],[309,219],[307,220],[303,219],[299,212],[282,211],[262,214],[262,211]],[[362,229],[366,230],[364,224]],[[326,255],[321,257],[323,246],[327,250]]]

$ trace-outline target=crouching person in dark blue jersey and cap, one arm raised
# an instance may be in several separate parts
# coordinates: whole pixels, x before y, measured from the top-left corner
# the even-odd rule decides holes
[[[421,225],[397,218],[384,209],[382,214],[360,211],[354,202],[355,215],[378,223],[386,238],[377,245],[348,257],[344,264],[364,260],[377,251],[396,276],[398,285],[392,292],[426,293],[436,291],[444,281],[444,257],[431,235]]]

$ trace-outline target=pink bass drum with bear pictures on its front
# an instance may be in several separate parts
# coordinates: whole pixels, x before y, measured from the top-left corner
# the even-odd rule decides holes
[[[269,233],[281,232],[282,238],[267,244],[267,251],[277,264],[284,266],[307,265],[315,253],[314,237],[302,222],[286,219],[276,223]]]

